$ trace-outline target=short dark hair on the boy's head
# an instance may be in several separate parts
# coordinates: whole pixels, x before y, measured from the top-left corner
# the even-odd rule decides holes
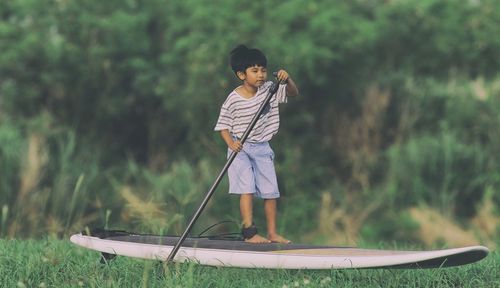
[[[238,45],[238,47],[231,51],[229,62],[234,73],[238,71],[245,72],[248,67],[255,65],[267,66],[267,59],[262,51],[259,49],[249,49],[245,45]]]

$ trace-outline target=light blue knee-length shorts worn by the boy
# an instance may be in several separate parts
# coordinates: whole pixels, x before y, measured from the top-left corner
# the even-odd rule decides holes
[[[228,149],[228,157],[232,150]],[[280,197],[274,170],[274,152],[269,142],[245,142],[229,166],[229,193],[254,194],[263,199]]]

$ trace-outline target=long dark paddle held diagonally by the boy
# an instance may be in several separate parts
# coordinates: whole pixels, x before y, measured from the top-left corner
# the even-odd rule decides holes
[[[275,77],[277,77],[277,72],[274,72],[273,75]],[[253,117],[252,122],[250,122],[250,125],[248,125],[247,129],[245,130],[245,133],[243,133],[243,136],[240,139],[241,144],[245,143],[245,141],[247,140],[248,135],[250,135],[250,132],[252,131],[255,124],[257,123],[257,120],[259,120],[259,117],[262,114],[262,112],[265,110],[266,105],[269,104],[273,95],[276,94],[276,92],[278,91],[278,87],[279,87],[279,83],[273,83],[271,85],[271,87],[269,88],[269,92],[267,93],[267,96],[264,99],[264,102],[262,102],[262,105],[260,106],[259,110],[257,111],[255,116]],[[171,262],[174,259],[175,254],[177,254],[177,251],[179,251],[179,248],[181,247],[182,243],[184,242],[184,240],[186,240],[187,234],[193,228],[194,223],[196,222],[196,220],[198,220],[198,217],[200,217],[201,212],[203,211],[205,206],[207,206],[208,200],[210,200],[210,198],[214,194],[215,189],[217,188],[217,186],[219,186],[220,181],[222,180],[222,178],[226,174],[227,169],[229,169],[229,166],[233,162],[234,158],[236,158],[237,154],[238,154],[238,152],[233,151],[233,152],[231,152],[231,155],[229,155],[229,158],[227,159],[226,165],[224,165],[224,167],[220,171],[219,176],[217,176],[214,184],[212,185],[210,190],[208,190],[207,194],[205,195],[205,198],[203,199],[203,201],[200,204],[200,207],[198,207],[198,210],[196,210],[193,217],[191,217],[191,220],[189,221],[189,224],[186,227],[186,230],[184,230],[184,233],[182,233],[181,237],[179,238],[179,240],[175,244],[174,248],[170,252],[170,255],[168,255],[167,263]]]

